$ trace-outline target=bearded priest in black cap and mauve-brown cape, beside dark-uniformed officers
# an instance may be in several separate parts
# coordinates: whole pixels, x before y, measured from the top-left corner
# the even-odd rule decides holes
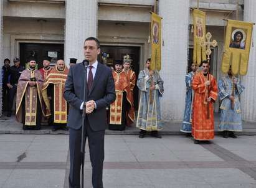
[[[29,68],[23,70],[17,83],[16,120],[23,124],[23,129],[40,129],[42,115],[49,116],[42,100],[43,79],[36,70],[36,59],[29,59]]]

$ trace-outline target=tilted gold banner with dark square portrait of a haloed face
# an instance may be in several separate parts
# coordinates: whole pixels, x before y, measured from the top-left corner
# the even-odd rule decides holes
[[[246,75],[252,41],[252,23],[243,21],[227,21],[225,46],[221,70],[229,71],[231,65],[234,75]]]

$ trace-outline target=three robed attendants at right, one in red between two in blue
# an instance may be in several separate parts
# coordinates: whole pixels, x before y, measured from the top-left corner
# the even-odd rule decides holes
[[[240,94],[244,86],[232,73],[219,82],[209,73],[210,65],[203,61],[199,68],[192,63],[191,72],[187,73],[186,106],[181,131],[193,136],[194,143],[214,139],[214,103],[219,96],[220,123],[219,131],[224,138],[237,138],[235,132],[242,131]]]

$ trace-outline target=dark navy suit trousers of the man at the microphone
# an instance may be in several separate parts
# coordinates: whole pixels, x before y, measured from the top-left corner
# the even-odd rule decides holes
[[[93,126],[93,125],[92,125]],[[80,188],[80,171],[81,171],[81,136],[82,128],[69,129],[69,150],[70,150],[70,173],[69,187]],[[102,171],[104,161],[104,136],[105,130],[93,131],[90,128],[88,120],[85,123],[84,143],[88,138],[90,149],[90,161],[92,164],[92,186],[93,188],[103,188]]]

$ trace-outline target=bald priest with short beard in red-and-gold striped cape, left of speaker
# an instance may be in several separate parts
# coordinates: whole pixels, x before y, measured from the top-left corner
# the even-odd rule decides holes
[[[42,88],[42,95],[45,103],[49,104],[52,116],[49,118],[49,125],[52,125],[52,131],[62,129],[67,131],[67,101],[65,101],[64,85],[67,80],[69,69],[65,66],[64,60],[57,61],[49,75],[45,78]]]

